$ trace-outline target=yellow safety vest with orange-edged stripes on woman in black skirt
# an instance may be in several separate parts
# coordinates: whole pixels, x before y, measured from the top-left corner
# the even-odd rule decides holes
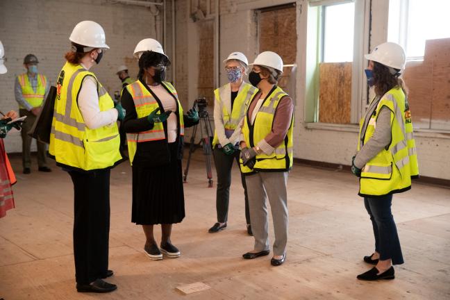
[[[167,81],[163,81],[161,85],[163,85],[167,92],[169,92],[176,100],[177,111],[174,113],[178,115],[178,134],[184,135],[183,107],[181,106],[180,101],[178,101],[178,93],[174,86]],[[160,113],[164,112],[163,105],[158,99],[153,97],[151,92],[149,92],[139,80],[127,85],[125,88],[131,94],[131,97],[133,97],[138,118],[147,117],[153,110],[156,110],[156,108],[160,108]],[[163,122],[153,124],[153,128],[149,131],[126,133],[128,156],[130,157],[131,165],[133,165],[136,149],[138,149],[138,142],[151,142],[165,139],[166,131]]]

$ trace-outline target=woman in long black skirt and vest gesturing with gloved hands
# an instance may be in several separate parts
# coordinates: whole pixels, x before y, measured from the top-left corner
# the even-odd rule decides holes
[[[131,222],[142,225],[144,251],[152,260],[177,258],[180,251],[170,240],[172,224],[185,217],[183,176],[184,126],[199,122],[197,111],[183,115],[178,94],[165,80],[170,65],[161,44],[153,39],[138,43],[134,55],[139,60],[138,81],[122,90],[126,110],[124,129],[133,169]],[[161,224],[160,248],[153,226]]]

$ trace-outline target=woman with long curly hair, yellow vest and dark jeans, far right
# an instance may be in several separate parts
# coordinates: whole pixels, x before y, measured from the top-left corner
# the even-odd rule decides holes
[[[360,121],[358,153],[351,171],[360,177],[360,197],[372,221],[375,251],[364,261],[375,265],[358,279],[393,279],[392,265],[401,265],[399,235],[392,217],[392,194],[411,188],[419,176],[411,114],[403,81],[405,52],[393,42],[378,45],[365,56],[367,83],[376,96]]]

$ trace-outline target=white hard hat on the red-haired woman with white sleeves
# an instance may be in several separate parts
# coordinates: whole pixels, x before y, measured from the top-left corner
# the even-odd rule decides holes
[[[83,21],[76,24],[69,40],[85,47],[109,49],[103,27],[94,21]]]

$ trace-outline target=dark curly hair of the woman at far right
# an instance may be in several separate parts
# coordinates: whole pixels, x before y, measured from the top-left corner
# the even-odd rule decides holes
[[[383,94],[395,87],[401,88],[405,94],[408,93],[403,79],[399,78],[398,73],[392,74],[389,67],[374,61],[372,73],[374,74],[375,94],[378,96],[383,96]]]

